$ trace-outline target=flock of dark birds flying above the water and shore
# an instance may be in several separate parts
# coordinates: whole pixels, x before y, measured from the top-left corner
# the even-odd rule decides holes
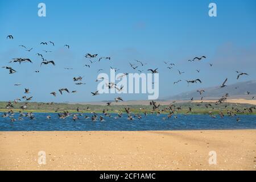
[[[7,36],[7,39],[14,39],[14,36],[13,35],[8,35]],[[49,41],[49,42],[41,42],[40,45],[44,45],[44,46],[47,46],[47,45],[51,45],[51,46],[55,46],[55,43]],[[19,47],[22,47],[24,48],[25,51],[27,52],[31,52],[33,48],[27,48],[26,46],[23,46],[23,45],[19,45]],[[67,49],[70,48],[70,46],[68,44],[65,44],[64,47],[66,47]],[[48,53],[48,52],[52,52],[52,51],[46,51],[46,50],[43,50],[45,53]],[[42,63],[40,64],[40,66],[42,65],[48,65],[48,64],[52,64],[52,66],[55,66],[55,61],[53,60],[46,60],[43,56],[42,53],[36,53],[37,56],[39,56],[41,59],[42,59]],[[91,53],[86,53],[86,55],[84,56],[86,59],[89,60],[90,64],[93,64],[93,63],[96,63],[97,61],[100,62],[101,60],[111,60],[111,57],[110,56],[107,56],[107,57],[98,57],[98,54],[91,54]],[[191,60],[188,60],[189,62],[193,62],[193,61],[202,61],[204,59],[206,59],[207,57],[206,56],[198,56],[198,57],[194,57],[193,59]],[[143,68],[147,65],[147,63],[143,63],[142,61],[140,60],[135,60],[136,63],[129,63],[130,64],[130,67],[131,69],[133,70],[137,70],[138,72],[143,72]],[[29,59],[29,58],[14,58],[12,59],[9,63],[19,63],[19,64],[23,64],[23,63],[32,63],[32,60]],[[88,67],[90,68],[90,64],[85,64],[84,67]],[[174,63],[170,63],[170,62],[167,62],[167,61],[164,61],[164,65],[166,65],[166,68],[167,69],[173,69],[175,67],[175,64]],[[213,64],[209,64],[210,67],[213,67]],[[5,69],[8,69],[9,70],[9,74],[14,74],[16,73],[17,71],[10,67],[9,65],[8,66],[4,66],[2,68],[5,68]],[[119,71],[118,68],[113,68],[113,67],[110,67],[111,69],[114,69],[115,72]],[[141,69],[142,68],[142,69]],[[73,69],[73,68],[64,68],[64,69]],[[103,69],[98,69],[97,72],[100,72],[102,71]],[[148,72],[151,72],[152,74],[154,73],[158,73],[158,68],[152,68],[152,69],[146,69]],[[180,71],[179,69],[177,70],[179,75],[182,75],[184,72],[183,71]],[[200,72],[200,69],[197,69],[196,70],[198,73]],[[35,71],[35,72],[39,72],[39,71]],[[249,74],[245,73],[245,72],[240,72],[240,71],[236,71],[237,72],[237,80],[241,77],[241,76],[249,76]],[[121,77],[125,77],[126,75],[128,75],[128,73],[123,73],[122,76],[119,76],[119,78]],[[79,77],[73,77],[73,81],[75,82],[76,85],[84,85],[86,83],[82,82],[82,78],[81,76]],[[100,80],[103,80],[104,78],[97,78],[96,79],[96,82],[97,81],[100,81]],[[201,79],[200,78],[196,78],[196,79],[192,79],[192,80],[185,80],[187,82],[187,84],[197,84],[197,83],[201,83]],[[226,85],[226,82],[228,81],[228,78],[225,78],[224,82],[222,82],[222,84],[220,85],[220,89],[221,88],[224,88]],[[177,80],[174,82],[174,85],[175,84],[178,84],[179,82],[181,82],[181,80]],[[152,83],[154,84],[154,82]],[[15,86],[20,86],[21,84],[14,84]],[[112,88],[115,88],[117,89],[119,92],[122,91],[123,89],[123,86],[121,86],[120,88],[118,88],[118,86],[113,83],[113,82],[109,82],[106,86],[108,86],[109,89],[112,89]],[[70,93],[69,89],[68,88],[60,88],[59,90],[57,90],[61,95],[64,94],[64,92],[66,93]],[[56,97],[57,96],[57,91],[53,91],[49,94],[51,94],[53,97]],[[77,90],[72,90],[71,93],[76,93]],[[201,90],[197,90],[197,92],[200,94],[200,96],[205,92],[205,90],[201,89]],[[32,96],[30,97],[27,97],[27,94],[30,94],[30,89],[29,88],[25,88],[24,89],[24,94],[26,94],[25,96],[22,97],[22,99],[25,101],[23,102],[24,104],[22,106],[20,106],[20,111],[19,111],[19,117],[18,117],[18,121],[21,121],[23,120],[24,117],[28,117],[30,119],[35,119],[35,115],[33,113],[27,113],[27,114],[24,114],[23,113],[23,110],[26,110],[28,109],[28,102],[27,101],[31,101],[32,100]],[[96,90],[95,92],[91,92],[92,96],[97,96],[98,94],[100,94],[98,92],[98,90]],[[250,92],[247,92],[247,94],[249,95]],[[229,94],[226,93],[224,96],[222,96],[216,103],[215,105],[220,105],[220,104],[223,104],[227,98],[229,97]],[[254,97],[252,98],[254,99]],[[193,98],[191,98],[191,101],[193,100]],[[200,106],[203,104],[203,97],[201,97],[201,102],[199,102],[199,104],[197,104],[197,106]],[[12,122],[16,121],[16,119],[14,118],[14,111],[12,110],[14,108],[14,105],[17,104],[18,102],[21,102],[22,100],[20,98],[14,100],[13,102],[12,101],[9,101],[7,102],[7,105],[6,105],[6,109],[8,109],[8,111],[6,113],[3,113],[2,114],[2,117],[4,118],[7,118],[9,117],[11,119]],[[122,97],[117,97],[117,98],[114,98],[114,101],[115,102],[119,102],[119,101],[123,101],[123,98]],[[175,115],[175,113],[177,113],[177,111],[181,110],[181,106],[176,106],[174,105],[175,101],[166,106],[166,107],[162,107],[160,108],[160,104],[157,104],[156,101],[150,101],[150,106],[152,106],[152,110],[151,110],[151,114],[161,114],[161,113],[168,113],[167,114],[167,118],[171,118],[172,115],[174,115],[174,118],[177,118],[177,116]],[[47,103],[48,105],[53,105],[53,102],[51,103]],[[106,103],[106,106],[110,106],[112,105],[112,102],[107,102]],[[213,104],[205,104],[205,107],[207,108],[211,108],[212,110],[214,109],[213,107]],[[226,107],[226,106],[225,106]],[[240,110],[240,109],[237,109],[235,107],[232,107],[231,110],[228,110],[227,114],[228,116],[230,117],[233,117],[233,116],[236,116],[237,114],[240,114],[240,113],[246,113],[246,112],[249,112],[249,113],[253,113],[253,109],[255,109],[254,106],[252,107],[247,107],[243,110]],[[81,110],[79,109],[79,107],[77,107],[77,113],[69,113],[68,111],[59,111],[59,108],[57,108],[55,110],[56,113],[58,113],[58,117],[60,119],[65,119],[65,118],[68,118],[68,117],[72,117],[72,119],[74,121],[76,121],[77,119],[80,119],[79,117],[84,117],[85,119],[91,119],[92,121],[97,121],[98,119],[100,121],[104,121],[104,117],[112,117],[112,115],[109,113],[109,109],[104,109],[102,110],[102,114],[97,114],[95,111],[91,111],[91,114],[92,116],[91,117],[88,117],[88,115],[83,115],[83,112],[84,111],[89,111],[90,108],[87,107],[86,110]],[[142,118],[142,114],[133,114],[131,113],[131,110],[129,107],[125,107],[124,108],[125,110],[125,113],[127,114],[127,119],[129,119],[130,121],[131,120],[134,120],[134,119],[141,119]],[[141,113],[143,113],[144,115],[147,115],[149,113],[147,113],[146,109],[145,108],[140,108],[141,110]],[[191,113],[192,112],[192,108],[189,107],[188,108],[188,111],[186,114],[188,113]],[[121,118],[122,117],[122,114],[123,112],[120,111],[119,113],[117,113],[117,116],[115,116],[114,118],[115,119],[118,119],[118,118]],[[224,117],[224,113],[222,111],[219,112],[219,115],[221,118]],[[213,114],[212,111],[209,111],[209,116],[212,117],[212,118],[216,118],[216,115]],[[162,119],[165,120],[167,119],[166,117],[163,117]],[[47,119],[51,119],[51,116],[48,115],[47,116]],[[240,121],[240,118],[237,118],[237,121]]]

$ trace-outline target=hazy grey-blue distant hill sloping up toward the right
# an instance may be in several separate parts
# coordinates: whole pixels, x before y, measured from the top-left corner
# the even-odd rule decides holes
[[[164,100],[190,100],[192,97],[198,100],[202,96],[204,99],[214,100],[220,98],[225,93],[229,93],[230,98],[251,99],[256,95],[256,80],[238,82],[236,84],[228,85],[224,88],[220,88],[220,86],[214,86],[210,88],[204,88],[204,90],[205,92],[201,96],[196,90],[193,90],[177,94],[176,96],[166,97]],[[250,92],[250,95],[246,94],[247,91]]]

